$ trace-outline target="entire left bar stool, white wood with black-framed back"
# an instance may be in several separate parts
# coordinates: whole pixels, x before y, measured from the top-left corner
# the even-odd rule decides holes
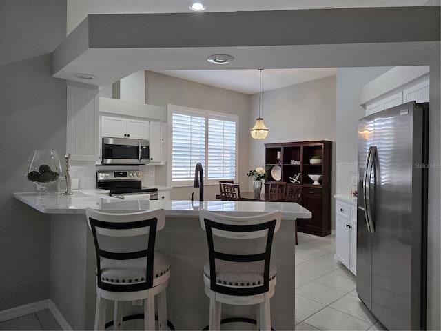
[[[96,250],[95,330],[105,328],[107,300],[114,301],[114,330],[121,330],[123,314],[119,301],[141,299],[144,328],[154,330],[156,294],[158,328],[165,330],[165,289],[170,278],[170,263],[154,251],[156,230],[165,225],[165,210],[116,213],[86,208],[85,212]]]

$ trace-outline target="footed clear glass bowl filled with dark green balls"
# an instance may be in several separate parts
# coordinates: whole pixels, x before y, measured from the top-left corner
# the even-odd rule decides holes
[[[49,183],[61,176],[61,163],[56,150],[34,150],[30,154],[26,178],[37,185],[37,190],[45,192]]]

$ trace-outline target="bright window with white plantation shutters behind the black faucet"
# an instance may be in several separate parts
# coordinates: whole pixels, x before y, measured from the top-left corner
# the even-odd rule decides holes
[[[238,116],[168,105],[173,185],[191,185],[201,162],[207,183],[236,178]]]

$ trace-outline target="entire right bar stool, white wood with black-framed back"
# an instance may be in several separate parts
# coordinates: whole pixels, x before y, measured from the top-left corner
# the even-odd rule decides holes
[[[209,261],[203,269],[205,293],[210,299],[209,330],[220,330],[221,303],[257,305],[258,330],[271,330],[269,299],[276,286],[276,266],[270,263],[274,232],[280,228],[279,211],[255,216],[232,217],[200,210],[201,227],[207,233]],[[214,237],[227,239],[266,238],[263,252],[225,252]]]

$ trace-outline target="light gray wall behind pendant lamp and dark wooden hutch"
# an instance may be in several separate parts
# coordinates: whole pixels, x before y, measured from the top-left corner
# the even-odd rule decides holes
[[[265,126],[269,129],[269,134],[266,139],[255,140],[248,133],[250,152],[247,171],[265,166],[265,143],[336,141],[336,76],[263,92],[260,113]],[[256,117],[258,117],[258,94],[252,97],[247,132],[254,126]],[[335,147],[333,143],[333,169],[335,169]],[[335,192],[334,174],[333,170],[332,195]],[[251,180],[248,179],[247,185],[249,190],[252,190]],[[334,229],[334,201],[331,215]]]

